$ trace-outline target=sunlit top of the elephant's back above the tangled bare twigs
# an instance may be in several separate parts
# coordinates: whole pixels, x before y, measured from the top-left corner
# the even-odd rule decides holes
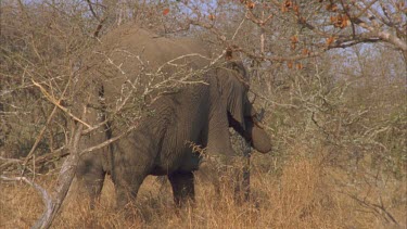
[[[154,72],[168,61],[193,53],[211,58],[203,42],[198,39],[167,38],[135,24],[123,25],[109,33],[101,39],[101,44],[97,47],[97,50],[104,52],[117,64],[122,64],[123,71],[127,72],[138,72],[140,65]],[[194,67],[202,67],[205,65],[204,60],[190,56],[179,59],[174,63],[189,63]]]

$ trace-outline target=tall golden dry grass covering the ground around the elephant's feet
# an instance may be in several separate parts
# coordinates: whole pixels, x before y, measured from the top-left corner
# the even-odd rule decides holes
[[[398,221],[398,228],[406,227],[405,182],[391,177],[358,179],[343,169],[322,165],[319,157],[304,155],[305,152],[298,152],[296,158],[283,166],[281,176],[277,176],[256,163],[269,157],[256,154],[251,203],[236,204],[233,189],[228,186],[220,194],[215,193],[200,171],[195,207],[175,211],[169,185],[149,177],[132,213],[123,213],[114,208],[114,187],[109,180],[96,211],[87,207],[82,196],[68,196],[53,227],[397,228],[387,213]],[[47,176],[37,178],[48,188],[53,186],[52,180]],[[0,228],[27,228],[42,211],[37,193],[22,183],[1,183],[0,204]],[[385,212],[374,204],[383,204]]]

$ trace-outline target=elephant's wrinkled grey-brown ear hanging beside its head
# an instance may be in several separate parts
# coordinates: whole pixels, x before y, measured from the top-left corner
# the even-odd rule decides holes
[[[230,117],[245,129],[244,116],[250,106],[247,99],[249,76],[241,62],[228,62],[226,67],[219,69],[218,77]]]

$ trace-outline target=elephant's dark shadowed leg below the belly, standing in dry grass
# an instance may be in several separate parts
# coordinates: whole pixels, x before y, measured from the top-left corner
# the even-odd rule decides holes
[[[175,171],[168,175],[173,187],[174,202],[183,206],[189,201],[195,201],[194,176],[192,171]]]

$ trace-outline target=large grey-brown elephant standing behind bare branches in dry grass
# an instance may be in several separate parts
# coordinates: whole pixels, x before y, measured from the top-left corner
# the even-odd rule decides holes
[[[137,62],[139,66],[135,66],[136,62],[126,63],[127,60],[113,56],[114,61],[125,63],[119,65],[125,68],[120,69],[122,73],[161,68],[164,77],[168,78],[181,65],[187,66],[185,73],[188,73],[190,69],[203,69],[211,63],[211,58],[202,58],[209,54],[205,44],[200,41],[189,38],[157,38],[157,35],[133,25],[122,26],[107,34],[102,43],[101,50],[112,50],[112,47],[117,49],[120,46],[131,53],[144,53],[144,60]],[[199,58],[191,53],[199,53]],[[178,56],[188,56],[188,60],[178,60]],[[176,60],[177,64],[164,66],[171,60]],[[143,63],[142,67],[140,63]],[[93,76],[103,71],[98,68]],[[94,101],[102,100],[103,103],[100,106],[102,109],[89,105],[87,122],[99,122],[101,116],[106,120],[111,118],[109,111],[113,110],[112,104],[123,93],[128,78],[140,76],[122,75],[113,73],[103,80],[91,80],[98,86]],[[242,62],[230,60],[205,68],[199,82],[166,91],[143,107],[144,113],[138,120],[137,128],[109,148],[81,155],[76,171],[79,186],[94,203],[101,193],[106,173],[111,174],[116,204],[123,207],[136,199],[147,176],[167,176],[178,206],[193,201],[193,171],[199,169],[202,154],[207,152],[226,157],[234,154],[229,127],[257,151],[267,153],[271,150],[269,136],[257,125],[256,111],[247,99],[247,91],[249,74]],[[101,110],[103,115],[100,115]],[[109,119],[103,130],[82,137],[81,148],[119,136],[125,127],[136,125],[131,122],[131,118],[125,122],[119,118]],[[204,152],[196,150],[196,145],[204,149]]]

